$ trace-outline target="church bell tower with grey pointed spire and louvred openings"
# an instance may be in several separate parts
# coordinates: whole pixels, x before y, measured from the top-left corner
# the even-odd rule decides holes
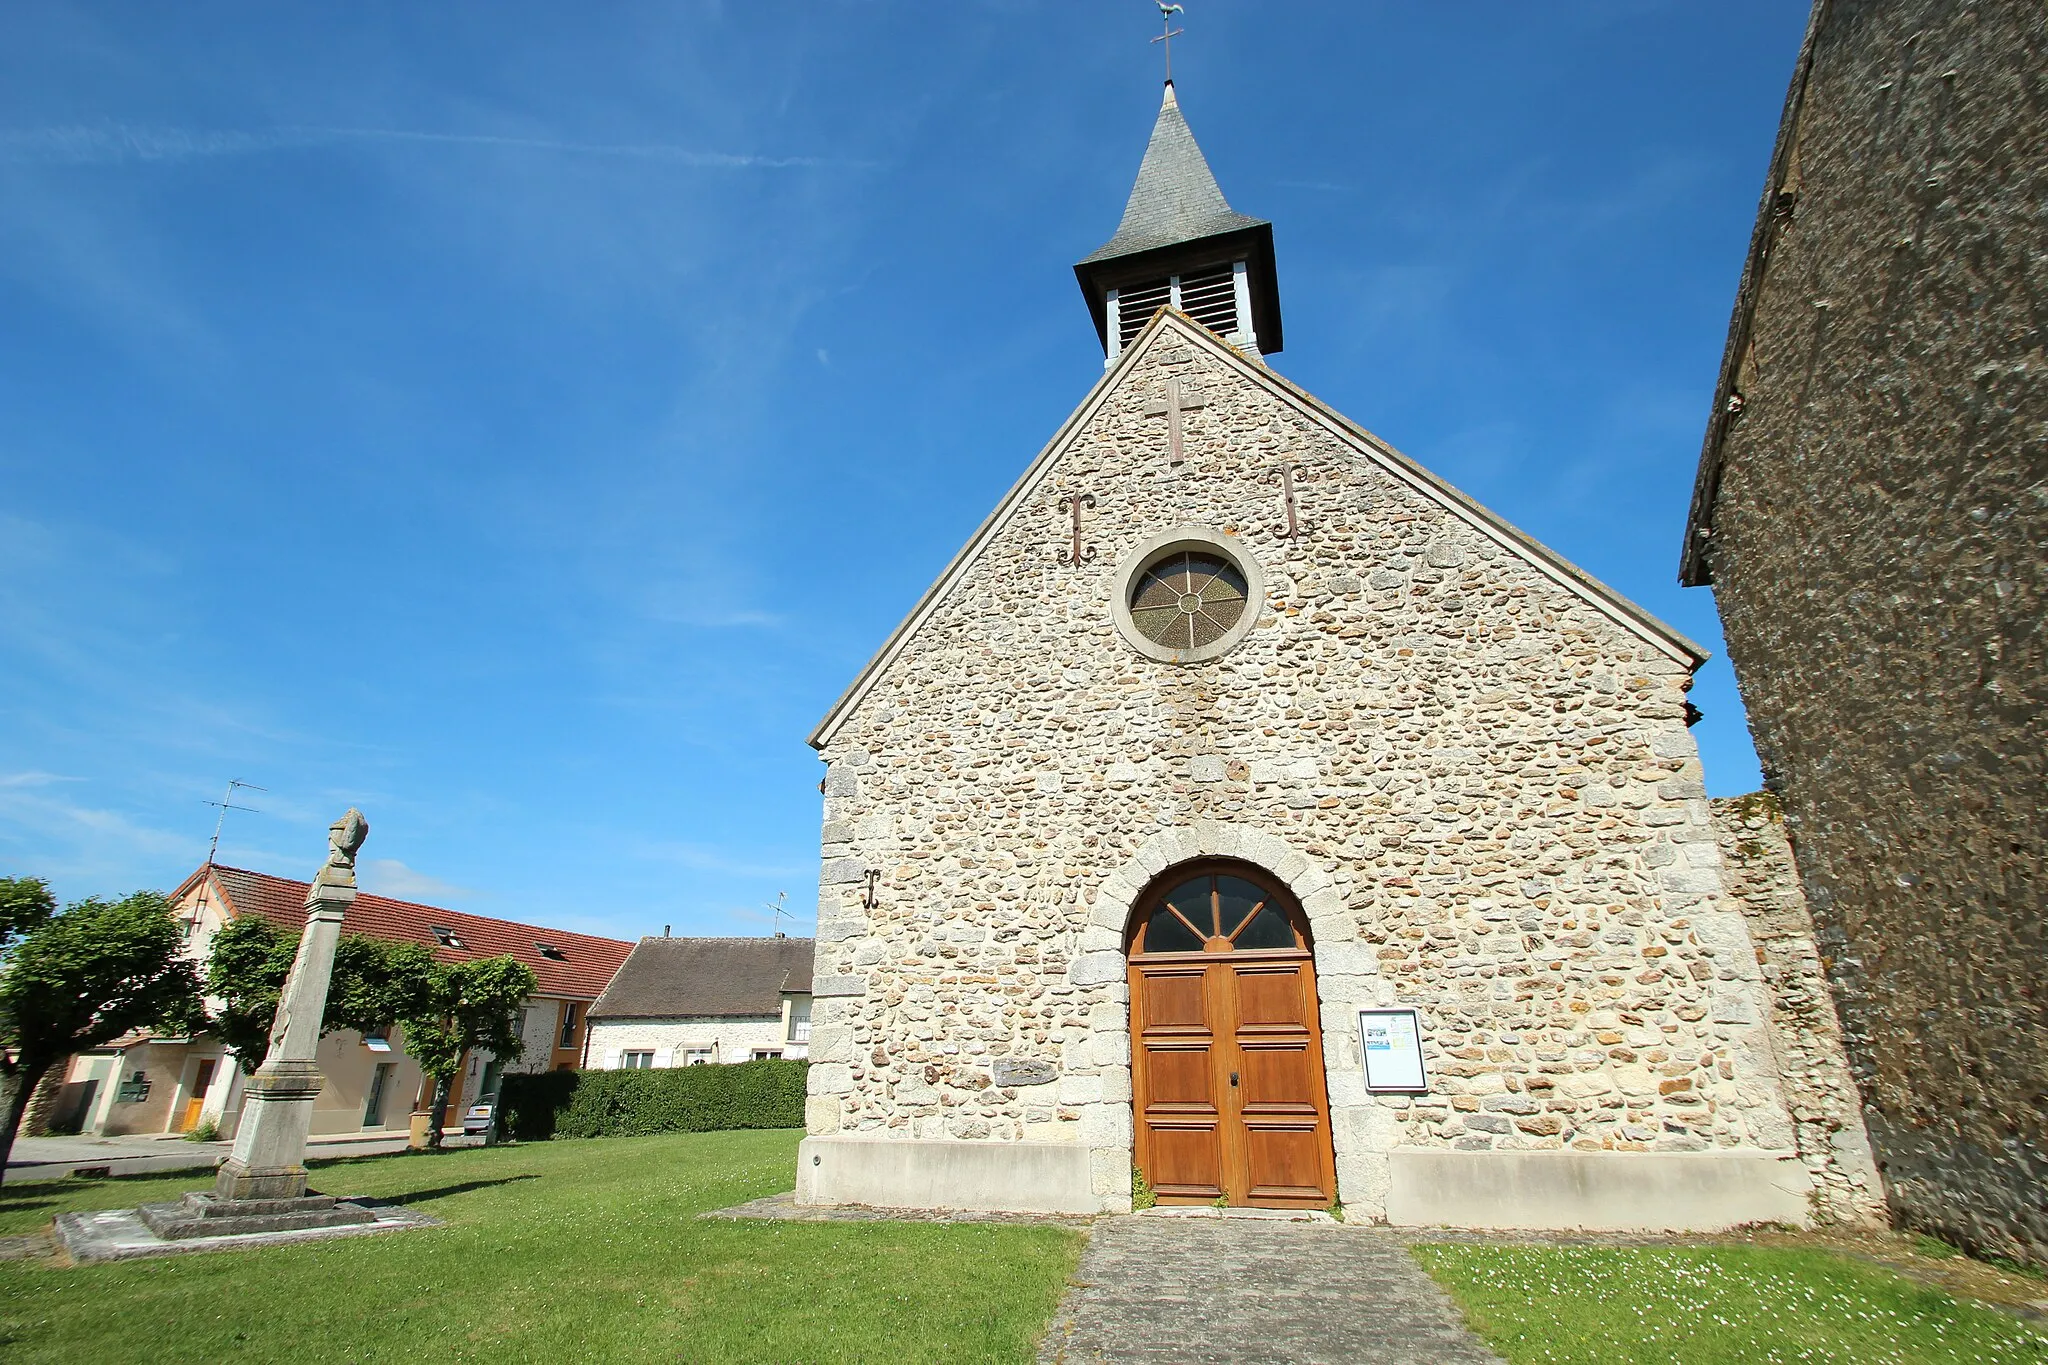
[[[1280,350],[1274,225],[1231,209],[1165,82],[1116,235],[1075,268],[1104,364],[1174,307],[1251,358]]]

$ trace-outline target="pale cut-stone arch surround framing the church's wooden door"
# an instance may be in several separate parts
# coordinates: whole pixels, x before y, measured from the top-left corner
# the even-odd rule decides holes
[[[1096,1031],[1102,1074],[1100,1113],[1087,1124],[1092,1177],[1098,1195],[1128,1193],[1133,1160],[1130,1111],[1130,984],[1124,976],[1124,927],[1151,882],[1196,857],[1237,857],[1278,878],[1300,900],[1315,935],[1317,1011],[1323,1027],[1323,1074],[1329,1087],[1329,1128],[1337,1150],[1337,1197],[1348,1209],[1380,1216],[1386,1207],[1393,1117],[1366,1091],[1358,1056],[1356,1013],[1393,1003],[1372,943],[1358,935],[1358,911],[1321,860],[1280,835],[1251,825],[1196,821],[1161,829],[1102,880],[1090,907],[1081,954],[1071,968],[1075,986],[1108,986],[1118,1011],[1114,1036]],[[1114,1038],[1114,1042],[1110,1042]]]

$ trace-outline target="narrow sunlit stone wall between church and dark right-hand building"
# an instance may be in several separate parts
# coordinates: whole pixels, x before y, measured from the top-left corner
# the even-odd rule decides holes
[[[1798,886],[1784,814],[1769,792],[1714,800],[1722,878],[1749,919],[1763,984],[1769,988],[1772,1044],[1800,1160],[1812,1177],[1819,1222],[1886,1224],[1884,1185],[1841,1021],[1815,945],[1812,915]]]

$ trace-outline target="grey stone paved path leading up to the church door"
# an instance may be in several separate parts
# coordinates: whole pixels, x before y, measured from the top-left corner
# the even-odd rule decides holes
[[[1040,1365],[1499,1361],[1391,1234],[1249,1218],[1104,1218]]]

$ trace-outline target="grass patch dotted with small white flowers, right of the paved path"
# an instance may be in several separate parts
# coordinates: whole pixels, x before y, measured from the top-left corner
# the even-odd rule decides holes
[[[2048,1363],[2028,1322],[1823,1250],[1446,1244],[1415,1259],[1511,1365]]]

